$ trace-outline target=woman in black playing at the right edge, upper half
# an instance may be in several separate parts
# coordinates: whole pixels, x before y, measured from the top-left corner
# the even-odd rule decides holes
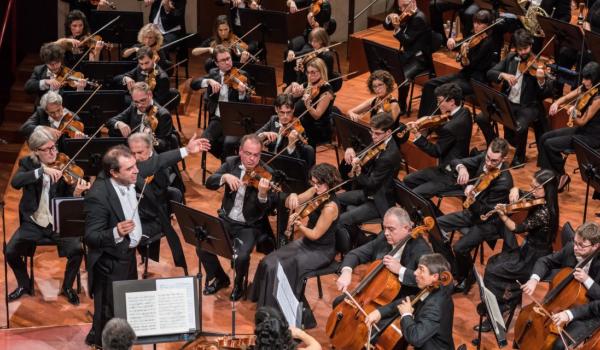
[[[566,185],[571,182],[569,175],[565,173],[565,157],[562,152],[566,149],[572,149],[573,137],[577,136],[591,148],[600,147],[600,95],[589,91],[593,86],[600,83],[600,65],[596,62],[590,62],[583,67],[581,71],[582,88],[574,89],[564,95],[550,106],[550,116],[556,115],[561,106],[567,102],[578,101],[577,106],[567,108],[567,115],[574,127],[565,127],[555,129],[545,133],[540,142],[540,152],[538,154],[539,166],[543,169],[554,170],[560,175],[558,190],[562,191]],[[595,88],[597,91],[597,87]],[[584,106],[578,96],[587,92],[588,102]],[[591,95],[591,96],[590,96]],[[582,98],[583,99],[583,98]]]

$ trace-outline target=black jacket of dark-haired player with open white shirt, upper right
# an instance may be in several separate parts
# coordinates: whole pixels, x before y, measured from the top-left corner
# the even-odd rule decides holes
[[[502,92],[507,94],[510,90],[510,85],[503,79],[500,79],[500,73],[508,73],[512,75],[516,75],[517,69],[520,63],[520,59],[518,59],[518,55],[514,52],[511,52],[506,56],[505,59],[498,62],[494,67],[492,67],[488,73],[487,78],[491,82],[502,83]],[[546,82],[543,86],[537,81],[537,78],[530,75],[529,73],[525,73],[523,75],[523,84],[521,86],[521,106],[534,106],[541,105],[541,102],[545,97],[549,96],[552,91],[551,83],[546,79]]]

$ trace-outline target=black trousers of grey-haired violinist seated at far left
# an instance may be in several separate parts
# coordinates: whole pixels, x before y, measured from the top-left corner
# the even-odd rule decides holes
[[[51,226],[41,227],[30,221],[23,221],[19,229],[11,237],[6,245],[6,261],[11,267],[17,279],[19,287],[31,288],[29,275],[25,264],[25,255],[30,254],[35,243],[42,239],[50,239],[58,247],[58,255],[67,257],[67,266],[63,280],[63,288],[72,288],[73,281],[83,259],[81,241],[78,238],[64,238],[52,232]]]

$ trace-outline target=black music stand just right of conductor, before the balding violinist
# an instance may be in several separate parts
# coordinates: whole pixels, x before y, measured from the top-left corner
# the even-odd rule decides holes
[[[193,245],[196,249],[204,250],[225,259],[231,260],[233,273],[235,275],[235,260],[237,254],[235,247],[225,232],[225,227],[220,218],[209,215],[202,211],[190,208],[181,203],[171,201],[173,213],[179,223],[179,229],[186,243]],[[202,288],[202,263],[198,257],[198,283]],[[234,276],[235,278],[235,276]],[[235,279],[234,279],[235,280]],[[202,293],[200,304],[202,304]],[[231,308],[231,336],[235,337],[235,301]],[[200,317],[200,328],[202,329],[202,317]],[[199,334],[201,336],[203,334]]]

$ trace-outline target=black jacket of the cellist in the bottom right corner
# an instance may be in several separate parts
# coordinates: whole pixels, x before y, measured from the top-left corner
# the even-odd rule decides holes
[[[577,259],[573,251],[573,242],[567,243],[561,250],[554,252],[550,255],[539,258],[533,266],[531,274],[540,276],[541,279],[553,269],[562,269],[564,267],[575,267],[577,265]],[[594,284],[587,291],[587,297],[590,300],[600,299],[600,259],[592,259],[590,270],[588,275],[594,280]]]

